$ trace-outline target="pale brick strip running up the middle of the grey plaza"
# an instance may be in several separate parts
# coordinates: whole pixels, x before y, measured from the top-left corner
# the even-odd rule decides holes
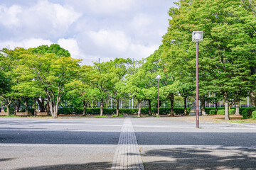
[[[144,170],[142,157],[130,118],[124,119],[111,169]]]

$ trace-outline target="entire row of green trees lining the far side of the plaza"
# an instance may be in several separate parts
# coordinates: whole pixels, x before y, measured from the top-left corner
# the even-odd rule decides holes
[[[75,98],[84,108],[92,100],[100,101],[103,115],[104,103],[113,98],[119,115],[119,101],[132,97],[139,103],[139,116],[143,100],[148,101],[151,114],[151,102],[157,97],[156,74],[161,74],[161,100],[170,101],[174,115],[174,96],[181,96],[186,115],[187,98],[194,96],[196,87],[193,30],[203,30],[199,48],[202,111],[209,93],[215,94],[215,101],[225,101],[225,119],[230,106],[239,106],[240,98],[248,94],[255,106],[255,1],[180,0],[176,5],[169,11],[163,44],[142,61],[117,58],[80,66],[80,60],[59,45],[1,50],[0,95],[8,112],[11,102],[21,98],[26,108],[28,98],[35,98],[39,105],[47,98],[50,113],[57,118],[62,98]]]

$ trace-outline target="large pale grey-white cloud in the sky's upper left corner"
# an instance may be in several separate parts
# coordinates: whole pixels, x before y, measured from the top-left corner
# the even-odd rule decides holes
[[[63,36],[80,16],[81,13],[69,6],[47,0],[38,1],[34,6],[0,6],[0,25],[21,38]]]

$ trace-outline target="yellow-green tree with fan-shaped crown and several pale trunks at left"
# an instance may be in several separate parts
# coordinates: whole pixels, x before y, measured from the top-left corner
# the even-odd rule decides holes
[[[46,93],[52,118],[58,118],[60,98],[76,86],[80,66],[71,57],[59,57],[53,53],[46,55],[25,55],[26,66],[35,82]]]

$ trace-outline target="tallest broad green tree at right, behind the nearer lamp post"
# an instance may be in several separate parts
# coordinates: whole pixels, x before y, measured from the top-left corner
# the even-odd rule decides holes
[[[179,74],[194,79],[195,43],[191,42],[192,30],[203,30],[199,61],[200,87],[207,80],[216,87],[225,100],[225,119],[229,119],[229,96],[250,86],[250,66],[255,64],[251,52],[255,49],[255,16],[241,6],[241,1],[194,0],[178,1],[178,8],[171,8],[172,16],[164,44],[168,45],[174,62],[180,63]],[[250,61],[250,62],[249,62]],[[183,69],[179,69],[182,68]],[[185,82],[189,82],[186,78]],[[184,81],[181,81],[184,82]],[[208,84],[209,85],[209,84]],[[212,91],[212,89],[210,89]]]

